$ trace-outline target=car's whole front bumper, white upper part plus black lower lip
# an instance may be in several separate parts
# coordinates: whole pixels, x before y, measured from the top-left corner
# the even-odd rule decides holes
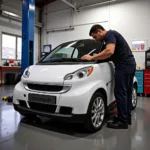
[[[13,104],[22,115],[35,114],[67,121],[84,122],[92,95],[100,88],[97,82],[73,83],[72,88],[63,94],[50,94],[26,90],[19,82],[14,89]],[[29,101],[29,94],[55,96],[56,104],[47,105]],[[23,104],[21,104],[23,103]],[[34,103],[34,104],[33,104]],[[71,111],[70,111],[71,110]]]

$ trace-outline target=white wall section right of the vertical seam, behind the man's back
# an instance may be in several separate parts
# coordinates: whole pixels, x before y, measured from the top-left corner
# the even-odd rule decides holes
[[[130,0],[110,5],[110,28],[121,32],[130,46],[134,40],[144,40],[147,44],[146,47],[150,47],[149,27],[149,0]],[[133,52],[133,54],[137,65],[141,69],[144,68],[145,52]]]

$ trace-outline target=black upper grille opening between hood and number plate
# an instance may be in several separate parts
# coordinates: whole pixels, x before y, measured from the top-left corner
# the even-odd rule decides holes
[[[63,90],[63,86],[59,85],[40,85],[27,83],[27,87],[30,90],[47,91],[47,92],[60,92]]]

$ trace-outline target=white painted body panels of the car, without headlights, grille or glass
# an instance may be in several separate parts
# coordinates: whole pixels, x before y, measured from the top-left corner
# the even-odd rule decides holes
[[[84,67],[93,66],[93,73],[83,79],[64,80],[64,77]],[[24,100],[28,104],[28,94],[36,93],[42,95],[51,95],[57,97],[57,111],[59,106],[68,106],[73,108],[73,114],[86,114],[92,98],[92,95],[98,89],[104,89],[107,94],[107,104],[114,101],[113,78],[114,69],[112,63],[83,64],[83,65],[34,65],[29,68],[29,78],[22,77],[14,90],[13,103],[19,104],[18,100]],[[38,75],[38,76],[37,76]],[[23,83],[39,83],[54,85],[71,85],[71,89],[66,93],[46,93],[33,92],[25,89]],[[110,82],[110,83],[109,83]],[[107,83],[108,86],[106,85]],[[24,97],[26,94],[26,97]],[[29,105],[28,105],[29,107]]]

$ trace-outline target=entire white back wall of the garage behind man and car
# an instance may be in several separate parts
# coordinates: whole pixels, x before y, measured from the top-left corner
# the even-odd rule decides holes
[[[77,6],[82,1],[72,1]],[[86,0],[83,5],[98,2]],[[46,15],[44,13],[47,13]],[[150,47],[150,1],[126,0],[116,1],[106,5],[98,5],[73,12],[69,6],[61,1],[53,2],[44,8],[42,45],[52,44],[54,48],[61,42],[80,38],[90,38],[89,29],[92,24],[100,23],[106,29],[114,29],[122,33],[131,46],[134,40],[145,40]],[[46,31],[74,26],[73,31],[49,32]],[[143,68],[145,52],[134,52],[137,64]]]

